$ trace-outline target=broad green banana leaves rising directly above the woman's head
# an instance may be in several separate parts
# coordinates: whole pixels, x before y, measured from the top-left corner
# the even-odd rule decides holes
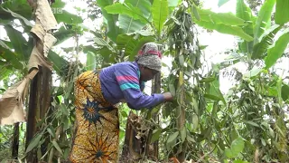
[[[91,32],[95,35],[92,39],[94,44],[83,46],[82,50],[84,53],[90,51],[101,55],[104,62],[113,63],[134,60],[144,43],[155,42],[160,38],[169,7],[172,10],[178,1],[154,1],[152,4],[150,1],[126,0],[114,4],[112,0],[98,0],[97,4],[107,24],[107,34]],[[117,58],[121,60],[114,60]]]

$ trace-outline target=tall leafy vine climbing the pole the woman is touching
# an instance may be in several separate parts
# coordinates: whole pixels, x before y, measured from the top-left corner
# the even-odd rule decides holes
[[[190,7],[189,7],[190,6]],[[172,134],[166,141],[166,149],[171,157],[184,161],[193,148],[194,136],[198,129],[199,117],[205,109],[202,90],[199,87],[200,45],[197,32],[191,21],[194,5],[183,1],[168,25],[168,45],[173,57],[172,71],[169,75],[169,90],[176,101],[166,105],[164,115],[170,115]],[[194,85],[191,84],[191,80]],[[191,127],[188,128],[188,125]]]

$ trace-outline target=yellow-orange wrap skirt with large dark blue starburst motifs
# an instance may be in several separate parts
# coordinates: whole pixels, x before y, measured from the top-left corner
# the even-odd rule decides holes
[[[117,107],[103,97],[97,71],[83,72],[75,82],[76,131],[71,162],[117,162]]]

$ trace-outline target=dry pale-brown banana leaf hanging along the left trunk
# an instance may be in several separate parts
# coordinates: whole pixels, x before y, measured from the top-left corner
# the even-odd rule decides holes
[[[33,52],[28,63],[28,70],[32,71],[17,82],[13,87],[5,91],[0,99],[0,125],[13,124],[24,120],[23,101],[27,96],[29,82],[38,72],[38,66],[52,68],[52,63],[46,57],[56,38],[51,34],[56,29],[57,22],[47,0],[38,0],[36,8],[36,21],[31,32],[38,39],[33,47]],[[33,70],[33,68],[36,68]]]

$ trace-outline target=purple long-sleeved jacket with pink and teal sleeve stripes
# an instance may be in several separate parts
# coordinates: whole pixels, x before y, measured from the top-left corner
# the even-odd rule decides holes
[[[162,101],[163,94],[145,95],[144,82],[136,62],[119,62],[101,70],[99,74],[104,98],[111,104],[122,100],[134,110],[152,108]]]

